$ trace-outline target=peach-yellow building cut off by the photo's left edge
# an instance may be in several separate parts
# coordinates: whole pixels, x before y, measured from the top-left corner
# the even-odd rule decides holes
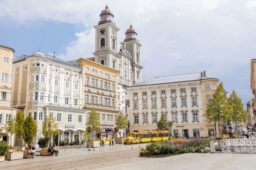
[[[0,126],[4,126],[12,115],[15,116],[17,110],[10,107],[12,101],[12,61],[14,52],[14,49],[0,45]],[[12,141],[10,137],[10,134],[6,134],[5,130],[0,134],[0,140],[5,140],[9,146],[14,146],[15,135],[12,135]]]

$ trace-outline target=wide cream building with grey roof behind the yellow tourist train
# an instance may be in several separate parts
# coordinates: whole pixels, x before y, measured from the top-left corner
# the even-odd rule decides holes
[[[163,114],[172,136],[185,136],[186,133],[189,137],[213,135],[214,123],[209,124],[203,114],[218,82],[202,72],[154,77],[128,87],[129,131],[156,130]]]

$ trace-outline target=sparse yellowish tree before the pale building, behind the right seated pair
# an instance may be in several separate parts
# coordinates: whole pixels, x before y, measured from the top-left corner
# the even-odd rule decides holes
[[[59,124],[55,123],[55,117],[52,115],[46,116],[44,121],[44,126],[42,133],[44,136],[48,137],[48,140],[50,141],[53,137],[57,136],[59,133]],[[48,141],[48,142],[49,142]]]

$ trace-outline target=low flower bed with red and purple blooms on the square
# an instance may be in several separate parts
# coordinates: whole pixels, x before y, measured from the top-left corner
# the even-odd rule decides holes
[[[152,155],[161,154],[177,154],[177,153],[193,153],[206,152],[210,150],[209,139],[174,139],[159,142],[153,142],[142,148],[141,153],[151,153]]]

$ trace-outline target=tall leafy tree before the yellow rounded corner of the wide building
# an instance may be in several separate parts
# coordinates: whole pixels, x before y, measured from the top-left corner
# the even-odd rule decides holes
[[[207,108],[205,111],[205,116],[209,123],[212,121],[214,123],[218,122],[219,136],[220,136],[220,121],[222,118],[228,119],[230,108],[228,106],[228,101],[223,92],[223,83],[217,87],[216,92],[212,95],[212,98],[209,99],[209,102],[206,104]],[[216,129],[215,129],[216,130]]]

